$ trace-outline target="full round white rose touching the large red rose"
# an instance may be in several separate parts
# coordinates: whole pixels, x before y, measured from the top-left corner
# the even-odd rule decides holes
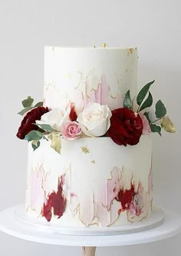
[[[99,137],[105,135],[110,128],[111,115],[110,108],[107,105],[89,103],[78,115],[77,121],[85,135]]]

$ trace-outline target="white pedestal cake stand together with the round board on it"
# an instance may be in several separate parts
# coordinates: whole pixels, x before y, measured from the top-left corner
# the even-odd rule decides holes
[[[153,214],[132,228],[71,229],[28,222],[23,205],[0,212],[0,230],[17,238],[43,244],[81,246],[84,256],[94,256],[96,247],[144,244],[170,238],[181,231],[181,216],[174,211],[153,208]],[[137,233],[136,233],[137,232]],[[137,234],[137,235],[136,235]]]

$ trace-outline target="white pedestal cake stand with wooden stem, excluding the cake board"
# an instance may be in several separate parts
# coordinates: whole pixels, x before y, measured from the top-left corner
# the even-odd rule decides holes
[[[17,206],[0,212],[0,230],[17,238],[44,244],[81,246],[84,256],[94,256],[96,247],[144,244],[170,238],[181,231],[181,216],[164,210],[165,218],[156,228],[137,233],[114,235],[67,235],[54,231],[44,232],[34,225],[28,225],[15,216]]]

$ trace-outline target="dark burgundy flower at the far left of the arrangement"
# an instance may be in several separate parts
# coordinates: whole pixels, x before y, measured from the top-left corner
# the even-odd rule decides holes
[[[33,108],[31,111],[28,111],[28,113],[25,115],[23,120],[21,121],[21,125],[18,128],[17,137],[18,138],[25,138],[25,135],[28,135],[28,133],[32,130],[38,130],[37,125],[33,125],[36,120],[41,119],[41,115],[44,115],[44,113],[48,112],[48,108],[44,107],[38,107]]]

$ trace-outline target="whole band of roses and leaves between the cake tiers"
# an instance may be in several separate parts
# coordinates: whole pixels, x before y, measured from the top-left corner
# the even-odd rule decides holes
[[[31,141],[34,150],[40,146],[41,139],[51,140],[51,147],[60,152],[61,136],[67,140],[85,136],[109,136],[117,145],[127,146],[137,145],[140,136],[148,135],[151,131],[161,135],[163,128],[174,133],[176,128],[166,116],[166,108],[161,100],[156,102],[156,119],[150,118],[148,108],[153,105],[150,92],[153,82],[150,81],[140,90],[136,101],[130,98],[130,90],[127,91],[123,108],[110,111],[107,105],[94,102],[85,105],[78,115],[73,102],[65,109],[49,109],[43,106],[43,102],[34,106],[34,99],[28,96],[22,101],[24,109],[18,113],[24,115],[24,118],[18,128],[17,137]]]

